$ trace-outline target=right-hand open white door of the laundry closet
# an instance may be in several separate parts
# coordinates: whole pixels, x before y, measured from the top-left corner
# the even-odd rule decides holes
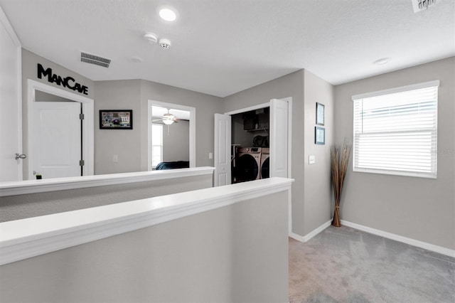
[[[270,100],[270,176],[288,177],[289,109],[285,100]]]

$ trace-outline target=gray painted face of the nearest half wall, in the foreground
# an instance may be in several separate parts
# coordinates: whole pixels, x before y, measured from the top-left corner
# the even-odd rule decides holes
[[[286,201],[282,191],[2,265],[0,302],[288,302]]]

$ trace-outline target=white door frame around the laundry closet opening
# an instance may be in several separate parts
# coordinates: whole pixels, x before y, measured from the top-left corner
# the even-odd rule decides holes
[[[275,98],[274,98],[275,99]],[[286,101],[288,104],[288,128],[287,128],[287,177],[292,178],[292,97],[281,98],[281,100]],[[253,105],[250,107],[242,108],[240,110],[232,110],[230,112],[225,112],[224,115],[235,115],[242,112],[250,112],[251,110],[259,110],[264,107],[270,107],[270,102],[262,103],[259,105]],[[292,233],[292,196],[291,189],[289,189],[288,195],[288,210],[289,210],[289,220],[288,220],[288,231],[289,234]]]

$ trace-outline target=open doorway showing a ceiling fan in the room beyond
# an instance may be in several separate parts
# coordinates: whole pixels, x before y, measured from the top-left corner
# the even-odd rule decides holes
[[[196,108],[149,100],[148,169],[196,167]]]

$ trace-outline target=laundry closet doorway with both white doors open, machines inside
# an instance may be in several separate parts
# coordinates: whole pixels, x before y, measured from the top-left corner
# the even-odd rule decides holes
[[[292,98],[215,114],[214,186],[291,176]]]

